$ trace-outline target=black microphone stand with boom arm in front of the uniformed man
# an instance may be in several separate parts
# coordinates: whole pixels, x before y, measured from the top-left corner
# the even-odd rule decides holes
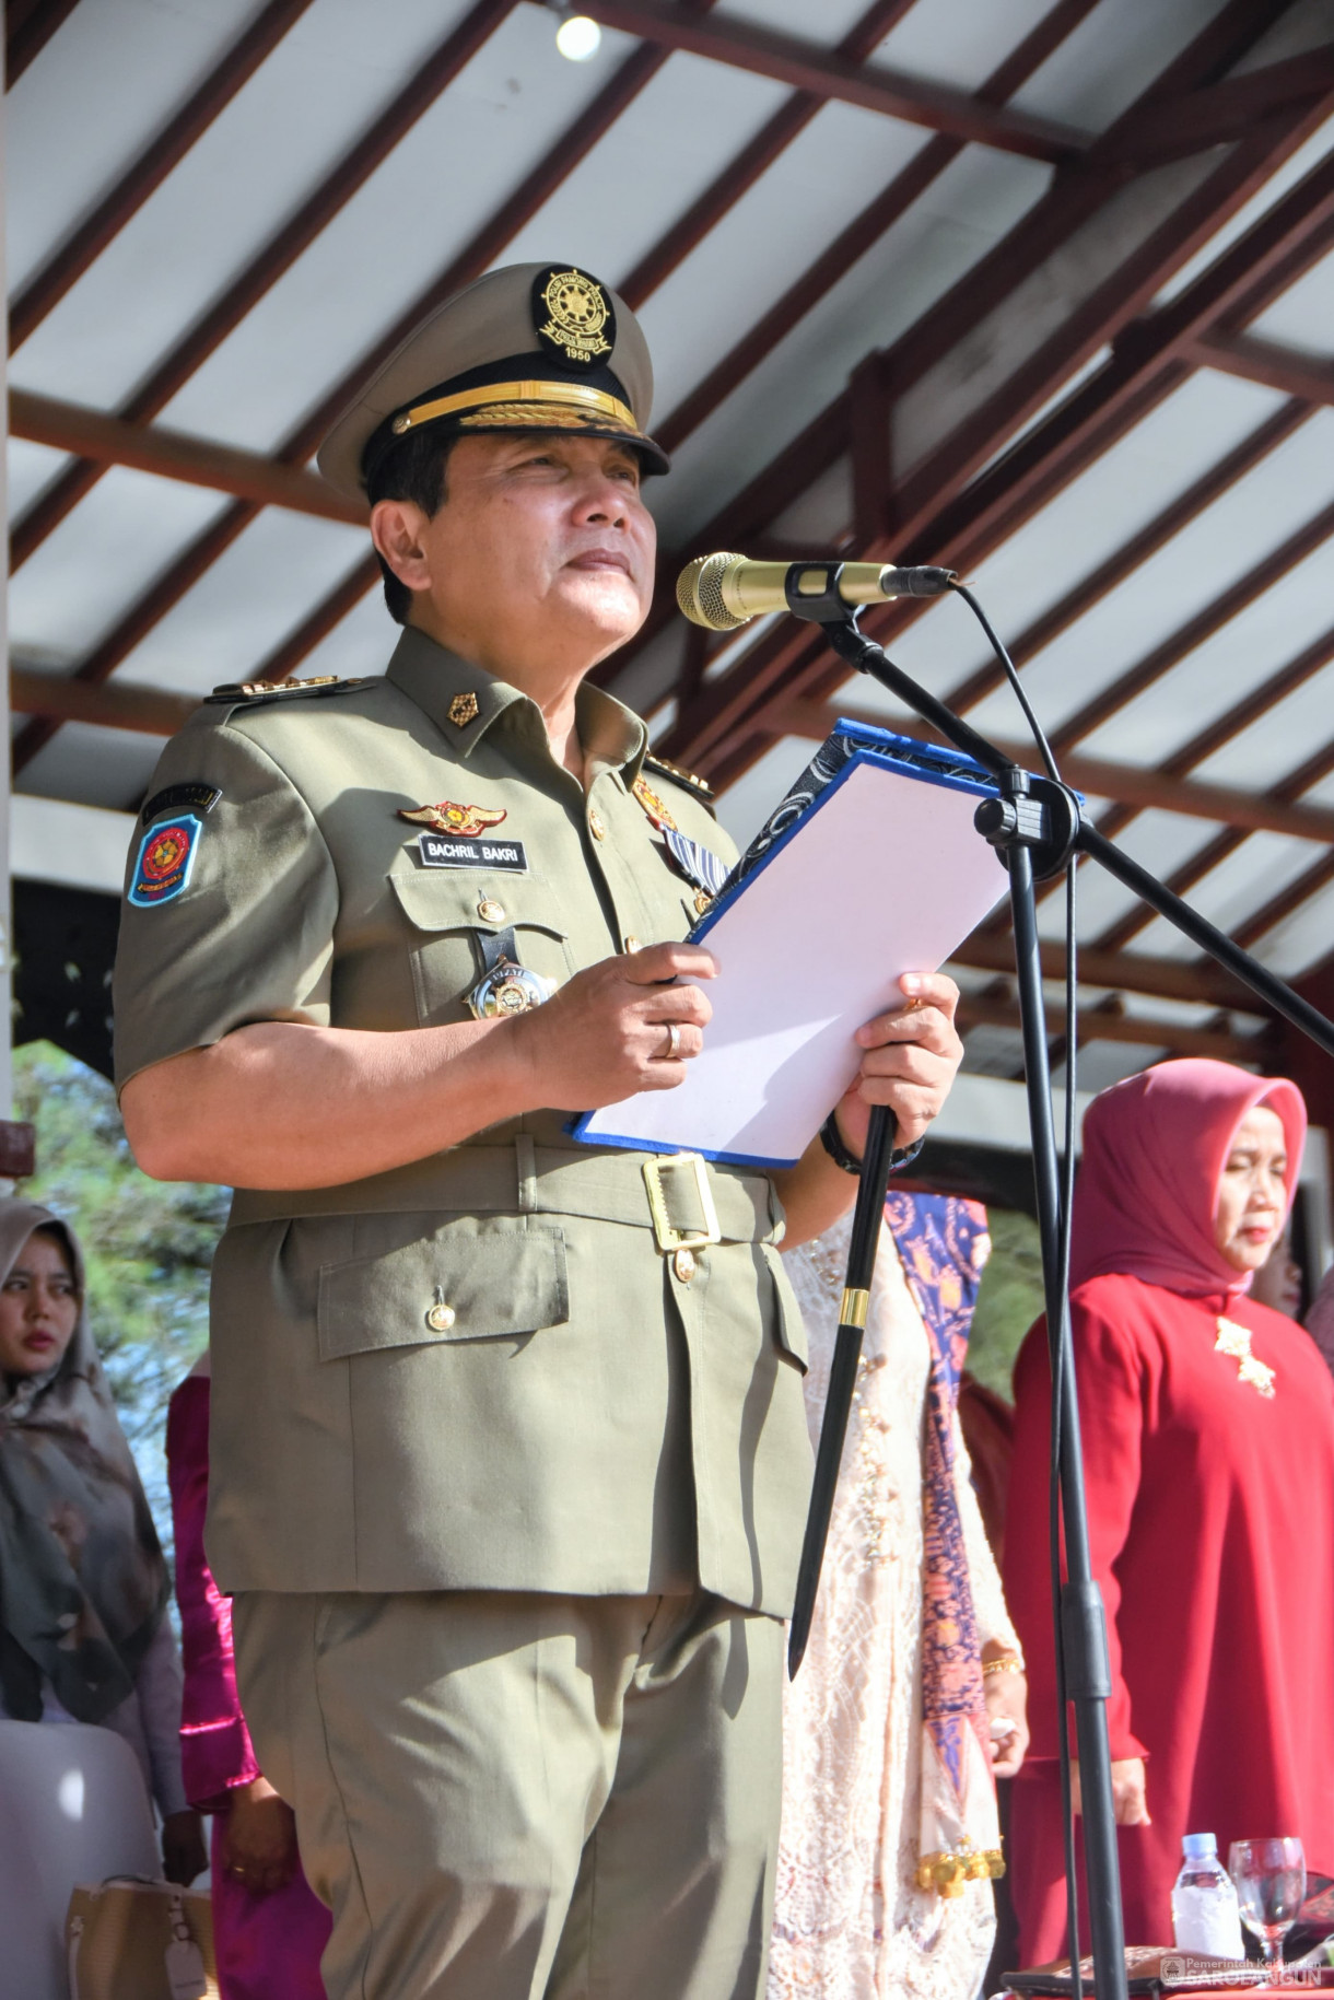
[[[974,824],[1004,860],[1010,872],[1010,912],[1014,920],[1014,958],[1018,974],[1020,1020],[1024,1036],[1024,1078],[1028,1088],[1028,1124],[1032,1132],[1034,1184],[1038,1198],[1038,1230],[1042,1238],[1042,1276],[1046,1294],[1046,1338],[1052,1364],[1052,1384],[1060,1384],[1060,1406],[1052,1422],[1060,1432],[1060,1510],[1066,1530],[1066,1576],[1060,1584],[1060,1638],[1064,1648],[1066,1698],[1074,1706],[1074,1728],[1080,1758],[1080,1790],[1084,1818],[1084,1856],[1088,1876],[1088,1906],[1098,2000],[1126,2000],[1126,1952],[1120,1910],[1120,1868],[1116,1858],[1116,1820],[1112,1812],[1112,1760],[1108,1748],[1106,1704],[1112,1694],[1112,1674],[1106,1642],[1102,1592],[1092,1576],[1088,1552],[1088,1508],[1084,1504],[1084,1462],[1080,1454],[1080,1406],[1074,1380],[1074,1346],[1070,1338],[1070,1298],[1060,1270],[1062,1200],[1052,1118],[1052,1076],[1046,1046],[1046,1004],[1042,996],[1042,962],[1038,952],[1038,912],[1034,882],[1060,874],[1070,858],[1086,854],[1152,910],[1174,924],[1194,944],[1202,946],[1228,972],[1250,986],[1274,1012],[1334,1056],[1334,1024],[1292,992],[1258,960],[1226,938],[1214,924],[1174,896],[1094,826],[1080,812],[1076,794],[1052,778],[1030,776],[994,744],[970,728],[934,694],[918,686],[888,654],[858,630],[856,612],[838,594],[842,564],[802,564],[788,570],[788,610],[824,628],[834,652],[882,688],[914,708],[924,722],[974,758],[998,780],[1000,796],[986,798],[974,814]],[[814,590],[816,582],[824,584]],[[804,586],[798,592],[798,582]],[[856,1370],[866,1326],[866,1302],[880,1240],[880,1216],[888,1182],[894,1120],[880,1106],[872,1112],[862,1182],[858,1188],[848,1258],[848,1288],[840,1308],[838,1340],[830,1368],[824,1404],[816,1478],[812,1488],[806,1540],[796,1584],[792,1634],[788,1642],[788,1674],[794,1676],[814,1614],[824,1540],[834,1504],[834,1486],[842,1460],[848,1414],[856,1388]],[[1064,1716],[1060,1720],[1064,1730]],[[1074,1898],[1074,1884],[1070,1884]],[[1074,1902],[1072,1902],[1074,1906]],[[1074,1958],[1074,1938],[1070,1940]],[[1078,1994],[1078,1966],[1072,1966]]]

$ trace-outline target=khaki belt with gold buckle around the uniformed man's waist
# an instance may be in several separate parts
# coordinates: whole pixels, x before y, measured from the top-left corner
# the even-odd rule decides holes
[[[776,1242],[782,1222],[766,1174],[714,1166],[694,1152],[594,1152],[536,1146],[520,1134],[508,1146],[458,1146],[340,1188],[238,1188],[230,1226],[374,1212],[586,1216],[652,1230],[664,1254],[710,1242]]]

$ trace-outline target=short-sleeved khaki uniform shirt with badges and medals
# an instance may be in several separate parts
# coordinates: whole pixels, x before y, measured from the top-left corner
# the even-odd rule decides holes
[[[458,696],[472,720],[450,720]],[[130,856],[118,1082],[250,1022],[466,1020],[480,940],[506,926],[560,982],[682,938],[696,892],[630,790],[644,726],[596,688],[578,722],[588,790],[534,702],[414,630],[384,680],[204,706],[154,794],[220,796],[174,790],[148,828],[194,816],[188,874],[164,870],[170,842],[146,872]],[[706,804],[648,778],[730,862]],[[428,866],[398,814],[444,800],[502,812],[496,846],[526,866]],[[654,1230],[650,1156],[578,1146],[566,1118],[350,1186],[236,1190],[212,1290],[224,1590],[698,1582],[790,1608],[810,1450],[772,1184],[706,1170],[720,1240],[690,1274],[672,1228],[702,1228],[696,1170],[664,1164]]]

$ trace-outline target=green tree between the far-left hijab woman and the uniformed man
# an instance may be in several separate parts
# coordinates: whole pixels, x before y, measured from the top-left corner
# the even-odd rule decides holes
[[[50,1042],[14,1052],[14,1116],[36,1126],[38,1164],[16,1192],[80,1240],[92,1334],[170,1550],[166,1404],[208,1344],[208,1270],[228,1190],[140,1174],[108,1080]]]

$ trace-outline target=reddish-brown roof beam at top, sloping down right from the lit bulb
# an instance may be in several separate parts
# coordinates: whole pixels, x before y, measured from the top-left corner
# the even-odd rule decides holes
[[[948,132],[952,138],[1030,160],[1072,160],[1088,144],[1084,132],[1054,118],[996,108],[964,90],[926,84],[882,64],[850,62],[818,42],[802,42],[736,18],[700,20],[670,0],[588,0],[584,12],[608,28],[638,34],[660,48],[682,48],[692,56],[750,70],[754,76],[770,76],[778,84],[790,84],[818,98],[860,104],[888,118],[902,118],[932,132]]]

